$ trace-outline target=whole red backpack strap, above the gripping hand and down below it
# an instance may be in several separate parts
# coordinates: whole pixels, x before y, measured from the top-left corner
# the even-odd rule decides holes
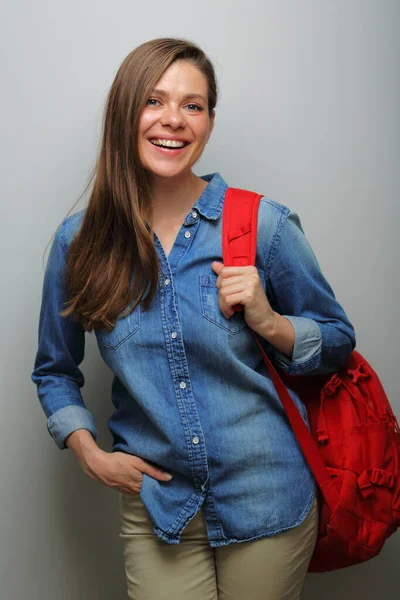
[[[222,221],[222,257],[224,265],[247,266],[255,264],[258,207],[261,198],[262,196],[255,192],[238,188],[227,189]],[[243,309],[241,305],[237,305],[234,308],[236,310]],[[327,505],[333,510],[338,502],[338,492],[333,485],[318,447],[282,379],[264,352],[255,332],[252,329],[250,331],[259,347],[303,454],[324,495]]]

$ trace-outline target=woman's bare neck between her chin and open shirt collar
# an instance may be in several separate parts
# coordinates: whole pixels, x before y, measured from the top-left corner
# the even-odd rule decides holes
[[[157,177],[151,180],[153,216],[171,217],[186,213],[207,187],[207,181],[188,171],[177,177]]]

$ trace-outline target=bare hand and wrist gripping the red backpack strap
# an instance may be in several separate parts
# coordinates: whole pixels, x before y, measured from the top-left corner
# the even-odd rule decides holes
[[[275,327],[276,313],[268,302],[258,270],[249,267],[224,267],[214,261],[211,267],[218,275],[219,307],[226,319],[233,313],[235,304],[244,306],[244,319],[260,335]]]

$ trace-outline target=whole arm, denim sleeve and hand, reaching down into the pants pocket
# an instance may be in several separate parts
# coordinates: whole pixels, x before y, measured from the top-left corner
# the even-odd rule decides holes
[[[169,481],[147,461],[124,452],[104,452],[96,444],[93,415],[81,395],[84,385],[79,364],[84,357],[85,332],[70,318],[60,317],[66,299],[64,223],[51,247],[43,282],[39,319],[39,348],[32,381],[47,416],[47,427],[60,449],[70,448],[90,478],[128,494],[140,492],[143,473]]]

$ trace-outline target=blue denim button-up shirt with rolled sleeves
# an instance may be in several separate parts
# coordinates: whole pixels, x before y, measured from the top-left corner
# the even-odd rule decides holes
[[[300,524],[315,486],[243,313],[226,319],[219,309],[211,263],[222,261],[228,185],[218,173],[203,179],[208,186],[186,215],[168,258],[155,236],[161,270],[150,308],[138,306],[96,337],[114,373],[113,451],[140,456],[174,476],[168,482],[143,476],[140,495],[154,531],[177,544],[202,507],[216,547]],[[59,316],[68,245],[84,210],[63,221],[52,244],[31,376],[48,431],[61,449],[79,428],[96,438],[81,396],[85,331]],[[256,266],[272,307],[295,331],[291,359],[264,341],[276,363],[297,374],[343,365],[355,346],[352,325],[298,216],[267,198],[259,209]],[[291,394],[307,422],[304,405]]]

